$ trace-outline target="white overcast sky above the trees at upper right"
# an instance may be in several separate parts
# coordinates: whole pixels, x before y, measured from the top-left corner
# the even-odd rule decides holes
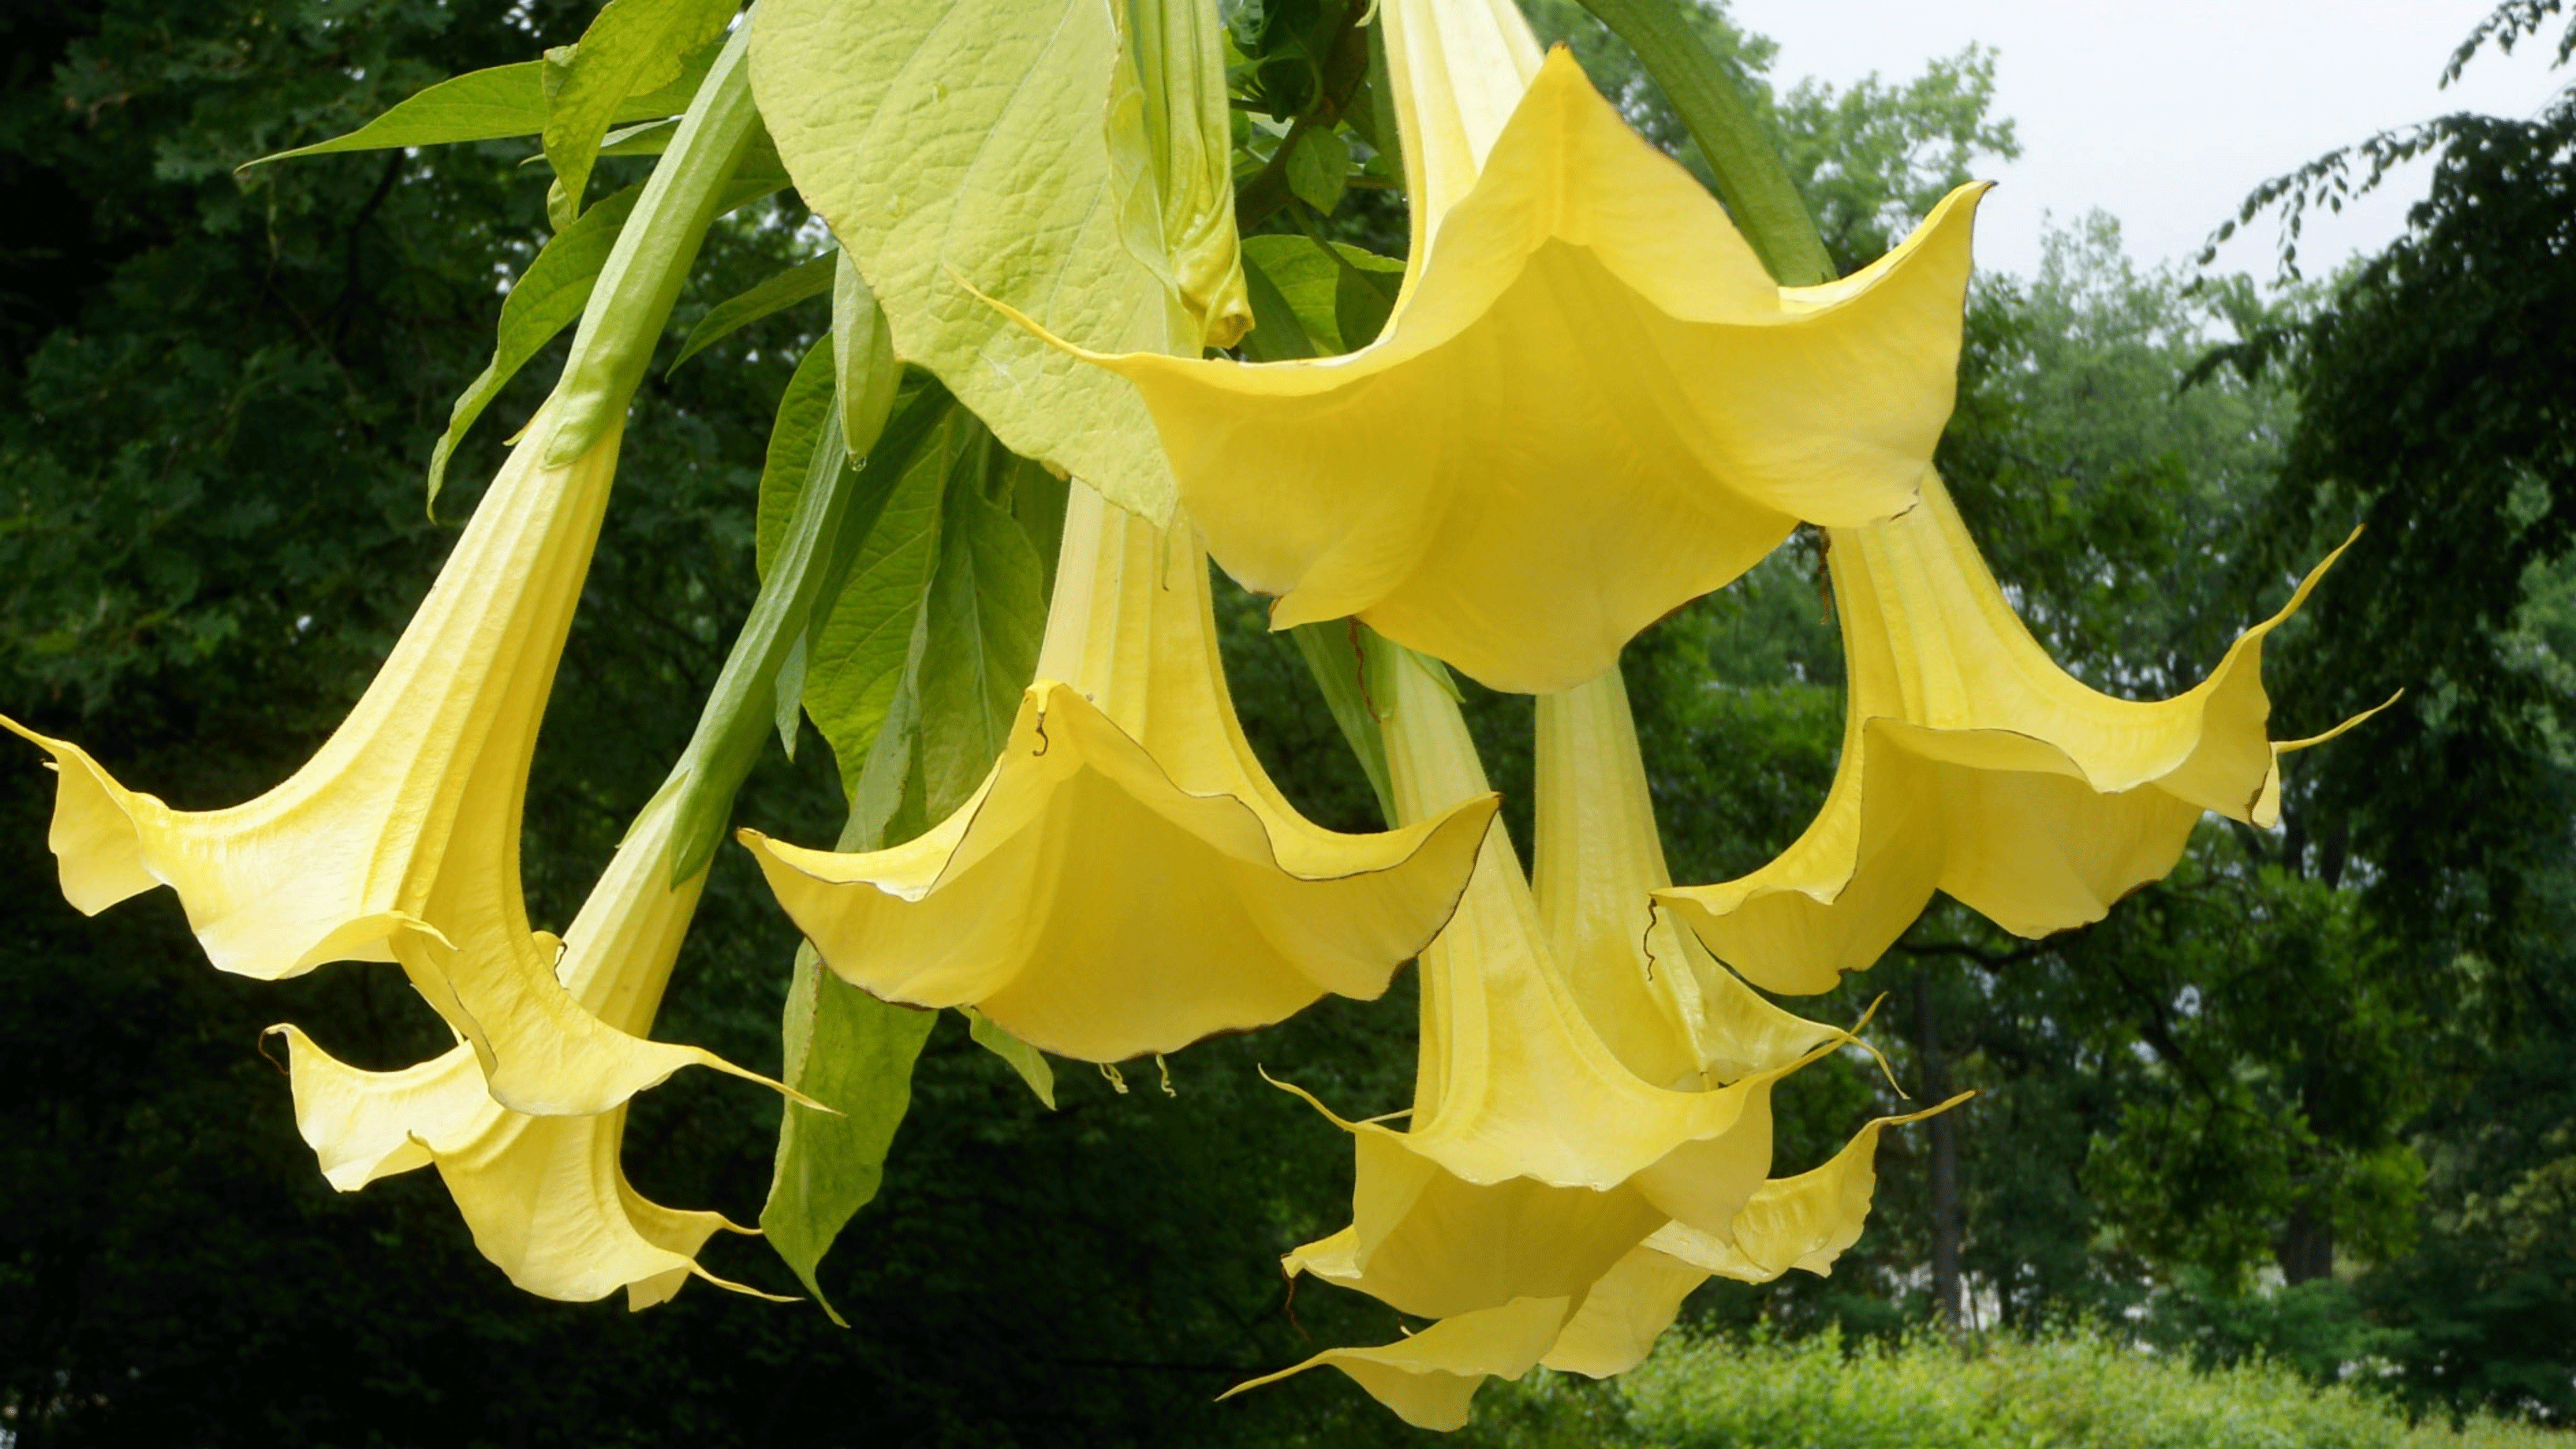
[[[2491,0],[1731,0],[1780,41],[1788,90],[1814,75],[1909,80],[1968,41],[1996,46],[1999,111],[2022,160],[1978,214],[1981,268],[2032,271],[2043,214],[2099,206],[2141,263],[2190,260],[2246,191],[2378,129],[2447,111],[2535,113],[2571,80],[2550,72],[2550,23],[2512,57],[2491,46],[2450,90],[2452,46]],[[2316,276],[2396,237],[2424,193],[2421,168],[2342,217],[2313,217],[2300,271]],[[2264,219],[2221,250],[2228,271],[2272,276]]]

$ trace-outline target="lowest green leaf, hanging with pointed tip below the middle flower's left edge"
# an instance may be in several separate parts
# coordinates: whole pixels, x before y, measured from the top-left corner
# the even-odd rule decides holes
[[[886,1150],[912,1109],[912,1067],[935,1024],[935,1011],[889,1006],[842,982],[811,944],[796,949],[783,1075],[840,1116],[786,1104],[760,1232],[842,1328],[848,1320],[824,1299],[814,1269],[886,1181]]]

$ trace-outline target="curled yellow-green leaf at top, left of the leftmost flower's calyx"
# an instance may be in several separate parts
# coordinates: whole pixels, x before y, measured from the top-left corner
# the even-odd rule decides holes
[[[580,44],[546,52],[546,160],[554,193],[546,214],[556,227],[582,211],[582,191],[600,155],[600,139],[618,121],[629,95],[677,85],[690,62],[724,36],[737,0],[608,0]]]

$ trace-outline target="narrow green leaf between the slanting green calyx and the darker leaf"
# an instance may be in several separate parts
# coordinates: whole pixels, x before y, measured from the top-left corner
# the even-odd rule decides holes
[[[899,469],[886,469],[896,474],[886,508],[806,652],[804,706],[832,743],[842,789],[853,794],[912,657],[912,634],[940,570],[940,500],[958,436],[971,428],[974,418],[951,405],[922,446]],[[868,472],[876,469],[871,459]]]

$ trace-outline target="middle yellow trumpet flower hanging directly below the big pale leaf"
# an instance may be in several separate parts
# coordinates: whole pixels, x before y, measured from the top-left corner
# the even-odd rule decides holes
[[[1208,565],[1074,485],[1038,681],[984,784],[868,853],[744,830],[842,980],[1113,1062],[1376,998],[1458,902],[1494,797],[1342,835],[1270,784],[1216,660]]]

